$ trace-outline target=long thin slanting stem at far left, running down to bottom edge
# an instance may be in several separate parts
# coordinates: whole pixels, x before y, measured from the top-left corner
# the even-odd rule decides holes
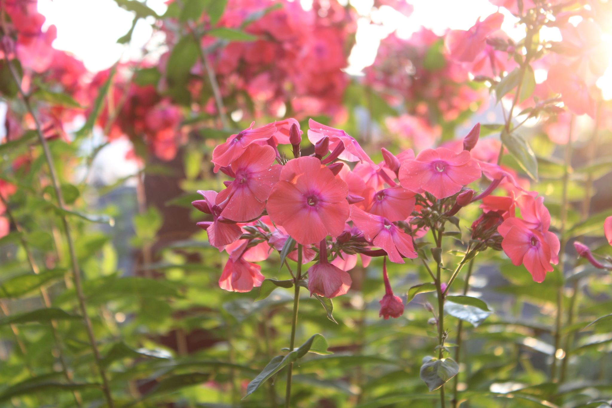
[[[6,30],[5,30],[6,32]],[[13,76],[13,80],[15,81],[15,84],[17,85],[17,89],[18,89],[18,93],[21,95],[21,98],[23,99],[23,103],[26,106],[26,109],[28,111],[29,114],[31,114],[32,119],[34,120],[34,124],[36,127],[36,132],[38,133],[38,138],[39,138],[39,142],[43,148],[43,152],[45,154],[45,160],[47,161],[47,166],[49,168],[49,174],[51,177],[51,184],[53,184],[53,190],[55,191],[55,195],[56,198],[58,200],[58,208],[60,210],[62,210],[62,212],[65,211],[65,204],[64,204],[64,196],[62,195],[62,190],[59,186],[59,177],[56,174],[56,170],[55,170],[55,166],[53,164],[53,155],[51,155],[51,150],[49,149],[49,144],[47,143],[47,139],[45,138],[45,136],[42,133],[42,128],[40,127],[40,122],[38,120],[38,117],[35,115],[34,113],[34,109],[32,109],[32,105],[30,104],[29,101],[29,96],[25,94],[25,92],[23,92],[23,89],[21,88],[21,81],[19,78],[19,75],[17,73],[17,70],[15,70],[15,67],[13,66],[12,62],[9,61],[8,57],[6,56],[6,52],[5,52],[5,58],[4,61],[6,61],[7,66],[9,67],[10,73]],[[75,245],[74,245],[74,241],[72,239],[72,234],[70,232],[70,226],[68,224],[68,220],[66,218],[66,216],[62,213],[61,215],[61,221],[62,224],[64,226],[64,232],[65,232],[65,236],[66,236],[66,241],[68,243],[68,250],[69,250],[69,254],[70,254],[70,261],[72,263],[72,279],[74,281],[75,284],[75,289],[76,289],[76,297],[78,299],[78,303],[79,303],[79,308],[81,311],[81,314],[83,315],[83,321],[85,323],[85,327],[87,329],[87,334],[89,337],[89,343],[91,343],[91,349],[92,352],[94,354],[94,358],[95,358],[95,363],[97,365],[100,377],[102,378],[102,391],[104,393],[105,399],[106,399],[106,404],[108,404],[108,408],[114,408],[114,402],[113,402],[113,398],[111,396],[111,390],[110,390],[110,384],[108,382],[108,378],[106,377],[106,371],[102,366],[102,363],[100,363],[100,360],[102,360],[102,357],[100,356],[100,351],[98,349],[98,345],[97,342],[95,340],[95,335],[94,335],[94,328],[93,325],[91,323],[91,319],[89,319],[89,315],[87,313],[87,306],[86,306],[86,302],[85,302],[85,295],[83,293],[83,286],[81,285],[81,272],[79,270],[79,266],[78,266],[78,260],[76,258],[76,250],[75,250]]]

